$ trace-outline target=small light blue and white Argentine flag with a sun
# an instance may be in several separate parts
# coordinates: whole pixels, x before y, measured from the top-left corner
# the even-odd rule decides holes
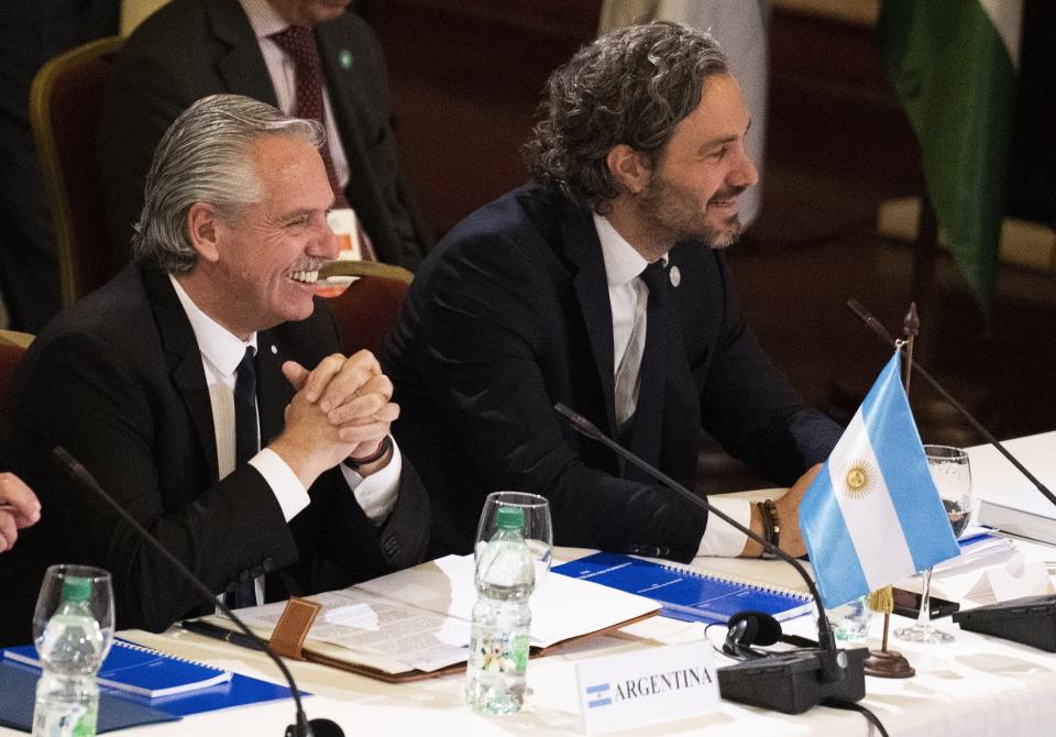
[[[800,504],[800,529],[827,608],[960,552],[899,377],[880,373]]]

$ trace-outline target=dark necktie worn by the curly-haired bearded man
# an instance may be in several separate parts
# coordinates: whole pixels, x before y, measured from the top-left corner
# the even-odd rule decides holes
[[[663,430],[668,267],[662,260],[657,260],[646,266],[640,277],[649,287],[649,302],[646,308],[646,345],[638,370],[638,404],[631,418],[630,450],[652,465],[659,465]],[[637,466],[626,469],[625,473],[628,479],[654,483]]]

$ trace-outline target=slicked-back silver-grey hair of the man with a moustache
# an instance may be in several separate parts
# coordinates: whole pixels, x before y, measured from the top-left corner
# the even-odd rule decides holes
[[[262,135],[300,139],[317,148],[326,136],[314,120],[292,118],[241,95],[210,95],[180,113],[157,144],[146,175],[132,237],[136,261],[152,261],[169,274],[191,271],[198,253],[187,232],[187,212],[195,202],[209,202],[230,218],[260,199],[250,148]]]

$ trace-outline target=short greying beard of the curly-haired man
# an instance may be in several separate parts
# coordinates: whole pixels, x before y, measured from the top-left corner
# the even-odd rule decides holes
[[[745,190],[735,187],[717,191],[712,199],[733,199]],[[638,197],[646,232],[658,244],[671,248],[681,241],[698,241],[710,249],[727,249],[740,238],[743,227],[735,212],[719,226],[707,220],[707,210],[685,187],[660,176],[653,177]]]

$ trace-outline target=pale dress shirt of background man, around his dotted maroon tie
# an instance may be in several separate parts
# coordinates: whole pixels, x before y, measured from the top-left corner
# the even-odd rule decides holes
[[[264,64],[267,66],[267,74],[272,78],[272,87],[275,88],[275,97],[278,99],[278,109],[292,116],[297,103],[296,66],[282,46],[268,38],[273,33],[288,28],[289,23],[272,8],[267,0],[240,0],[240,2],[242,10],[250,19],[256,42],[261,45],[261,54],[264,55]],[[326,74],[322,79],[322,124],[327,129],[330,158],[333,160],[338,184],[344,189],[349,184],[349,160],[344,155],[344,145],[341,143],[338,124],[333,118],[333,106],[330,103]]]

